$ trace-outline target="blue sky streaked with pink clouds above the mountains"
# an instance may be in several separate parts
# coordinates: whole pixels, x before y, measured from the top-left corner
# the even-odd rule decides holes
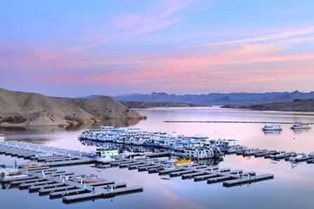
[[[0,88],[314,90],[313,0],[1,1]]]

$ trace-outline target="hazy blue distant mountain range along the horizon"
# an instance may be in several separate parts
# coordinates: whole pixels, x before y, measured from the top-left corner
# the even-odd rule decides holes
[[[93,97],[93,95],[91,95]],[[151,94],[128,94],[114,97],[121,101],[140,102],[181,102],[198,105],[253,105],[266,104],[270,102],[292,102],[295,99],[309,100],[314,98],[314,91],[302,93],[298,90],[294,92],[271,92],[271,93],[208,93],[208,94],[186,94],[175,95],[168,93]]]

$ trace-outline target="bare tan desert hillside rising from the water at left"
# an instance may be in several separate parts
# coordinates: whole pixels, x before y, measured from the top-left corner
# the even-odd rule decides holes
[[[0,88],[0,126],[79,126],[142,116],[111,97],[90,100],[47,97]]]

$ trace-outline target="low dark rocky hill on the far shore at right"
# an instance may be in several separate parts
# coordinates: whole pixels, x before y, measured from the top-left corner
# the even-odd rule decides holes
[[[223,108],[240,108],[254,110],[274,110],[274,111],[291,111],[291,112],[314,112],[314,99],[300,100],[295,99],[292,102],[272,102],[268,104],[254,105],[225,105]]]

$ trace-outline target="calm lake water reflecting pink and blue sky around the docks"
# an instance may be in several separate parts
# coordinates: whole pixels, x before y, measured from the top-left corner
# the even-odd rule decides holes
[[[314,128],[294,132],[289,125],[282,126],[280,134],[264,134],[263,124],[250,123],[164,123],[165,120],[191,121],[285,121],[314,123],[314,115],[282,112],[251,112],[217,108],[167,108],[145,109],[140,112],[148,117],[132,127],[144,130],[163,130],[185,135],[207,135],[213,138],[233,138],[239,144],[254,148],[285,151],[314,151]],[[34,130],[1,130],[10,140],[25,140],[55,147],[94,150],[77,140],[81,130],[63,131],[59,128],[34,128]],[[23,160],[18,159],[18,163]],[[13,159],[0,156],[0,164],[12,165]],[[314,208],[314,165],[300,163],[292,168],[286,161],[226,156],[219,166],[273,173],[274,180],[241,187],[224,188],[219,184],[193,182],[192,180],[161,180],[157,174],[110,168],[95,170],[89,166],[69,167],[67,170],[96,173],[108,180],[142,185],[144,192],[64,205],[60,199],[29,194],[19,189],[0,190],[1,206],[6,208]],[[18,201],[16,201],[18,200]]]

